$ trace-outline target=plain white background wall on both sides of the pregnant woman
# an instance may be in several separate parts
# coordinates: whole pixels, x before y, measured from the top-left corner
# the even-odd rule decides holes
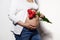
[[[51,32],[53,40],[60,40],[60,0],[39,0],[39,2],[40,11],[53,23],[42,22],[42,24]],[[8,19],[9,4],[10,0],[0,0],[0,40],[15,39],[10,32]]]

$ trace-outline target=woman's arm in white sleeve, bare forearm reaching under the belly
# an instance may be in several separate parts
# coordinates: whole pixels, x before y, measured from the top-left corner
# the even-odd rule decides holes
[[[12,21],[12,22],[14,22],[14,24],[18,24],[18,25],[20,25],[20,26],[23,26],[23,27],[26,27],[26,28],[29,28],[29,29],[33,29],[33,28],[35,28],[35,27],[32,27],[28,22],[26,22],[26,23],[23,23],[22,22],[22,18],[23,18],[23,16],[22,16],[22,14],[20,15],[21,17],[20,18],[18,18],[17,16],[16,16],[16,13],[17,13],[17,1],[16,0],[12,0],[12,3],[11,3],[11,6],[10,6],[10,8],[9,8],[9,14],[8,14],[8,17],[9,17],[9,19]],[[20,12],[21,13],[21,12]],[[24,15],[24,14],[23,14]],[[25,17],[24,17],[25,18]]]

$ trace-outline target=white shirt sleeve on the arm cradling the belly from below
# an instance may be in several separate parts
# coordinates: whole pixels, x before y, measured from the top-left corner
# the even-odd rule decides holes
[[[20,20],[20,19],[17,18],[16,13],[17,13],[17,1],[12,0],[10,8],[9,8],[8,17],[14,23],[17,23]]]

